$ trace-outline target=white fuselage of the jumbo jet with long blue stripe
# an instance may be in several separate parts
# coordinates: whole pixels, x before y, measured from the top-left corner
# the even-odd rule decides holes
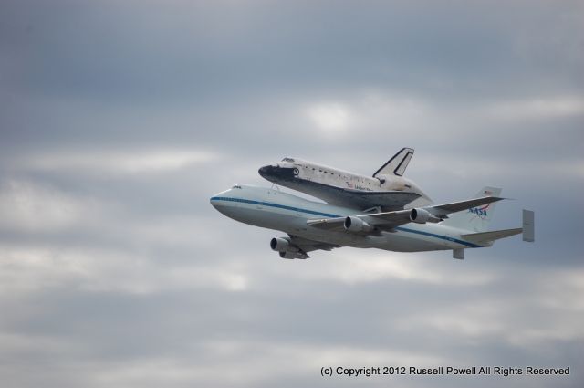
[[[307,220],[356,215],[355,209],[308,201],[265,187],[236,184],[214,195],[211,204],[224,215],[245,224],[338,246],[374,247],[398,252],[482,247],[461,238],[461,234],[467,231],[440,224],[410,223],[395,227],[391,232],[381,231],[377,236],[323,230],[307,225]]]

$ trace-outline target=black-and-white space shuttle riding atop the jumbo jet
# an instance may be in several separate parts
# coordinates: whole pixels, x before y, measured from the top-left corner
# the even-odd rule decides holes
[[[412,148],[402,148],[373,176],[289,157],[261,167],[258,173],[274,184],[313,195],[328,204],[359,210],[401,210],[432,204],[417,184],[402,176],[412,156]]]

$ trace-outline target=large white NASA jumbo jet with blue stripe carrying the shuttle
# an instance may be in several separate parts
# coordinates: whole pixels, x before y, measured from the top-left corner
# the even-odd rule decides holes
[[[211,197],[216,210],[236,221],[276,229],[270,247],[282,258],[308,258],[308,252],[341,246],[396,252],[452,250],[492,246],[495,240],[523,233],[535,240],[534,213],[523,211],[523,227],[487,231],[501,189],[485,187],[472,199],[390,212],[359,213],[354,208],[323,204],[271,188],[235,184]]]

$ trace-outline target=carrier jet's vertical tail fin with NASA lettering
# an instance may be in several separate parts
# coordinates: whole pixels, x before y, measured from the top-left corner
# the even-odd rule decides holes
[[[474,198],[483,196],[499,196],[501,189],[497,187],[483,187]],[[493,219],[496,202],[485,204],[478,207],[472,207],[462,212],[450,215],[443,221],[443,225],[453,226],[458,229],[472,232],[485,232]]]

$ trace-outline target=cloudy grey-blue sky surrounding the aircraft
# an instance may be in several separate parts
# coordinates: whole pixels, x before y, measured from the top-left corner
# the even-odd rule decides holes
[[[9,387],[584,383],[581,1],[0,3]],[[434,202],[503,187],[536,242],[308,260],[209,198],[285,156]],[[289,191],[288,191],[289,192]],[[323,366],[570,367],[327,377]]]

